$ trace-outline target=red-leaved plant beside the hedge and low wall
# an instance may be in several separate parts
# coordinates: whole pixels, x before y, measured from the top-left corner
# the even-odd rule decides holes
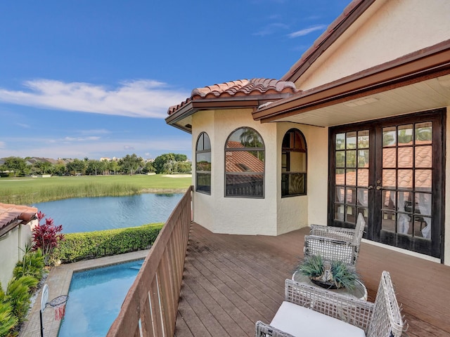
[[[34,249],[41,249],[44,254],[44,263],[49,265],[50,254],[58,246],[59,242],[64,239],[64,234],[61,233],[63,225],[53,225],[52,218],[46,218],[45,223],[41,224],[41,220],[45,214],[39,211],[37,218],[39,223],[33,228],[33,247]]]

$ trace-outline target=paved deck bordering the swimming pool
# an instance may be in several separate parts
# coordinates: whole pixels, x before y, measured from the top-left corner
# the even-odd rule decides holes
[[[139,260],[141,258],[145,258],[147,254],[148,250],[134,251],[116,256],[107,256],[105,258],[96,258],[93,260],[79,261],[76,263],[68,263],[66,265],[52,267],[45,282],[45,284],[49,286],[49,301],[57,296],[67,295],[69,293],[73,272],[103,267],[105,265],[115,265],[117,263],[124,263],[132,260]],[[42,289],[39,290],[32,310],[27,316],[27,321],[25,321],[22,329],[20,329],[19,337],[41,336],[41,323],[39,319],[39,311],[41,309],[41,291]],[[42,321],[44,323],[44,337],[57,337],[60,321],[56,321],[53,308],[50,306],[46,307],[46,310],[44,310],[42,315]]]

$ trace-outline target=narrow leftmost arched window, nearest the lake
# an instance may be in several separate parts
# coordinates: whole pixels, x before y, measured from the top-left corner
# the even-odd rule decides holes
[[[198,136],[195,147],[195,190],[211,194],[211,142],[207,133]]]

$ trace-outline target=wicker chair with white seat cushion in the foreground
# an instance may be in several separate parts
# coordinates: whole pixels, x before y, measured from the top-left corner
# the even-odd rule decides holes
[[[258,321],[256,337],[399,337],[404,329],[389,272],[375,303],[286,279],[285,301],[271,324]]]

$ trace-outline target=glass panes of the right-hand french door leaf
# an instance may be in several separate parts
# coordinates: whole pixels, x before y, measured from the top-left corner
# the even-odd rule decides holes
[[[425,136],[416,136],[420,130]],[[383,180],[377,186],[381,190],[383,206],[381,209],[381,242],[397,240],[396,235],[410,239],[430,240],[431,169],[416,169],[419,165],[430,166],[432,162],[432,146],[423,146],[422,141],[432,133],[432,124],[420,123],[400,124],[382,128]],[[425,140],[430,144],[430,140]],[[418,159],[418,162],[415,162]],[[389,169],[385,169],[388,167]],[[397,203],[394,202],[397,196]],[[420,196],[423,211],[420,212],[418,197]],[[388,207],[386,209],[386,207]],[[426,215],[426,216],[425,216]],[[425,216],[425,218],[423,218]]]

